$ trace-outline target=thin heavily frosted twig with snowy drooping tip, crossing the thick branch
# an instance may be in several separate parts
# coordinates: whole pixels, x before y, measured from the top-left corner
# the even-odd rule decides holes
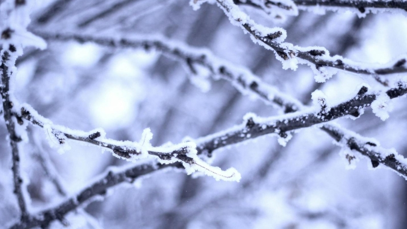
[[[240,180],[240,174],[235,168],[222,171],[219,167],[211,166],[201,160],[197,156],[195,142],[192,141],[182,142],[177,145],[152,147],[150,140],[153,134],[148,128],[143,131],[139,142],[118,141],[106,138],[106,134],[102,129],[83,132],[53,125],[51,121],[41,117],[36,110],[27,104],[23,104],[20,110],[21,115],[17,113],[13,115],[20,120],[25,119],[34,125],[42,127],[47,134],[51,146],[60,147],[62,151],[69,148],[67,139],[71,139],[109,149],[113,155],[132,162],[147,158],[148,156],[154,156],[162,164],[181,162],[187,174],[192,174],[194,171],[201,171],[208,176],[214,177],[216,180]]]

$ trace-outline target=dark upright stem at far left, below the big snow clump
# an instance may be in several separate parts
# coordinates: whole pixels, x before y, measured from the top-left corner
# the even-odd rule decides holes
[[[10,47],[14,46],[10,45]],[[9,132],[9,140],[12,151],[14,193],[17,196],[18,206],[20,207],[21,220],[24,220],[28,217],[28,213],[21,189],[22,178],[20,175],[20,156],[18,152],[18,142],[20,142],[22,139],[16,132],[16,120],[13,119],[12,115],[12,108],[14,104],[10,98],[10,74],[12,74],[14,62],[10,60],[9,52],[13,50],[15,51],[15,48],[11,48],[11,50],[2,50],[2,64],[0,65],[0,69],[2,71],[2,87],[0,93],[3,99],[3,117],[6,121],[7,130]]]

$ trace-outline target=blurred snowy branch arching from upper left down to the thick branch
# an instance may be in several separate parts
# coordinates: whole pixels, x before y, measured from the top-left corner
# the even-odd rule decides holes
[[[282,106],[286,112],[298,110],[301,103],[280,93],[275,87],[269,84],[259,83],[261,79],[254,76],[248,69],[232,65],[225,60],[220,60],[211,51],[202,48],[193,48],[170,41],[165,38],[140,36],[138,38],[109,38],[102,36],[81,35],[81,34],[55,34],[37,32],[46,40],[57,41],[77,41],[80,43],[92,42],[102,46],[114,48],[142,48],[146,51],[156,50],[170,58],[175,58],[190,70],[193,75],[202,77],[201,68],[209,71],[214,79],[218,77],[232,82],[232,84],[243,94],[254,93],[269,104]]]

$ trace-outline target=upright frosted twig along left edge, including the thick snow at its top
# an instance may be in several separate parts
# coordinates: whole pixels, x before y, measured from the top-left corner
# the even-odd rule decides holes
[[[12,151],[12,172],[14,182],[14,193],[21,211],[21,219],[29,217],[26,200],[30,198],[26,195],[26,190],[22,187],[23,179],[20,171],[19,142],[26,140],[25,126],[20,126],[19,120],[13,118],[12,113],[18,101],[14,98],[13,80],[16,74],[15,61],[22,54],[22,48],[34,46],[44,49],[46,43],[41,38],[26,30],[30,23],[30,9],[33,3],[25,1],[3,1],[0,5],[0,43],[2,58],[0,70],[2,74],[2,87],[0,94],[3,101],[3,117],[7,126],[8,138]],[[20,124],[20,125],[17,125]]]

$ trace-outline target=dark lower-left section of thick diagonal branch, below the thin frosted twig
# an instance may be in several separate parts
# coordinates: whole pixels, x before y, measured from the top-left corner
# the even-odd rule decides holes
[[[30,219],[21,220],[10,228],[47,228],[52,221],[64,221],[65,215],[72,210],[91,202],[92,199],[97,196],[105,195],[108,188],[124,182],[133,183],[135,179],[138,179],[143,175],[151,174],[154,171],[163,170],[168,167],[183,168],[183,165],[179,162],[174,164],[142,164],[122,169],[121,171],[110,170],[103,178],[83,189],[78,194],[70,197],[57,207],[42,211]]]

